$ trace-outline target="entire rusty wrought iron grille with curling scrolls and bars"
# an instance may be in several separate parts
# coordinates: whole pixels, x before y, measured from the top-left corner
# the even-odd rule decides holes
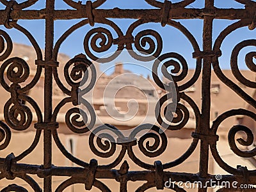
[[[234,115],[246,115],[256,120],[256,115],[253,112],[245,109],[232,109],[224,114],[219,115],[216,121],[213,124],[210,124],[210,107],[211,107],[211,68],[214,69],[214,73],[220,78],[220,80],[226,84],[230,89],[236,92],[244,101],[250,104],[253,108],[256,108],[255,100],[246,94],[246,92],[236,85],[234,82],[229,80],[224,73],[221,71],[219,64],[219,57],[221,56],[221,43],[228,36],[228,34],[232,33],[236,29],[239,29],[244,26],[248,26],[250,30],[255,29],[255,8],[256,2],[250,0],[234,0],[238,3],[244,4],[244,9],[221,9],[214,7],[214,0],[205,0],[205,6],[202,9],[191,8],[189,4],[193,3],[195,0],[184,0],[179,3],[172,3],[171,1],[155,1],[155,0],[145,0],[148,4],[152,6],[152,9],[144,10],[124,10],[120,8],[114,8],[113,10],[102,10],[99,8],[101,4],[103,4],[106,0],[97,0],[93,3],[91,1],[87,1],[86,4],[82,4],[81,2],[76,2],[72,0],[63,0],[69,6],[74,8],[74,10],[56,10],[54,7],[54,0],[46,0],[46,6],[41,10],[28,10],[29,6],[35,4],[38,0],[27,0],[23,3],[17,3],[16,1],[6,1],[0,0],[6,8],[4,10],[0,10],[0,23],[6,29],[15,28],[23,33],[28,40],[31,42],[36,51],[36,74],[33,80],[22,87],[22,82],[26,82],[29,76],[29,66],[23,59],[19,57],[13,57],[7,59],[12,52],[13,43],[5,31],[1,30],[1,38],[0,38],[0,50],[2,52],[0,59],[4,61],[1,64],[0,74],[1,74],[1,85],[4,89],[10,92],[10,100],[4,105],[4,122],[0,122],[0,139],[2,141],[0,145],[0,149],[5,149],[11,138],[11,129],[15,129],[17,131],[22,131],[27,129],[32,123],[32,113],[31,109],[26,106],[26,103],[29,103],[33,110],[36,112],[37,122],[34,127],[36,129],[36,137],[33,144],[26,151],[22,152],[19,156],[14,156],[12,153],[8,155],[6,158],[0,158],[0,179],[15,179],[15,177],[19,177],[20,179],[27,182],[35,191],[42,191],[40,186],[36,183],[36,181],[30,177],[29,175],[36,175],[37,177],[44,179],[44,191],[49,192],[52,191],[52,177],[57,176],[66,176],[70,177],[66,181],[62,182],[60,186],[56,189],[56,191],[63,191],[68,186],[72,184],[81,183],[85,185],[85,189],[90,190],[92,186],[100,189],[100,191],[110,191],[108,186],[99,181],[99,179],[111,179],[120,183],[118,189],[116,191],[127,191],[127,182],[132,181],[144,181],[145,183],[137,189],[137,191],[147,191],[150,188],[163,189],[164,181],[168,181],[169,178],[172,178],[172,181],[202,181],[207,186],[207,181],[216,181],[216,175],[211,175],[208,172],[208,163],[209,163],[209,153],[211,150],[211,154],[214,157],[216,163],[223,168],[223,170],[230,173],[230,175],[222,175],[221,181],[237,181],[239,183],[247,183],[247,184],[256,184],[256,172],[255,170],[247,170],[246,167],[239,166],[237,168],[233,168],[232,166],[227,165],[223,159],[221,159],[218,154],[218,150],[216,148],[216,144],[218,143],[218,135],[216,133],[220,123],[227,119],[228,117]],[[61,38],[56,41],[54,45],[54,20],[70,20],[70,19],[83,19],[81,22],[75,24],[70,27]],[[132,18],[136,19],[136,22],[132,24],[127,33],[124,34],[115,22],[109,20],[109,18]],[[194,19],[198,18],[204,20],[204,29],[203,29],[203,48],[200,49],[197,41],[193,37],[193,35],[186,29],[186,27],[182,26],[177,20],[180,19]],[[214,42],[212,42],[212,23],[214,19],[225,19],[225,20],[237,20],[234,24],[227,26],[218,38]],[[45,20],[45,55],[43,56],[42,50],[38,46],[35,38],[29,33],[27,29],[19,25],[19,20]],[[92,159],[90,162],[81,161],[72,154],[70,154],[65,147],[61,144],[58,138],[58,122],[56,122],[56,117],[60,108],[65,105],[65,103],[72,103],[75,107],[77,107],[80,103],[78,101],[78,92],[79,85],[74,83],[74,80],[77,80],[77,73],[79,71],[85,72],[89,70],[92,63],[90,59],[93,61],[97,60],[97,55],[93,55],[90,52],[90,49],[95,50],[95,52],[103,52],[108,50],[112,45],[117,45],[116,51],[122,51],[125,48],[128,50],[133,50],[136,48],[139,51],[147,52],[147,54],[154,55],[154,57],[161,57],[162,52],[162,39],[161,36],[151,29],[146,29],[145,31],[141,31],[136,36],[132,35],[132,31],[148,22],[153,23],[161,23],[162,26],[170,25],[179,29],[188,40],[191,42],[191,45],[194,48],[193,58],[196,59],[196,69],[193,77],[183,85],[177,85],[177,96],[178,101],[182,98],[187,101],[191,108],[193,108],[193,112],[196,117],[196,128],[192,133],[191,137],[193,137],[193,142],[189,147],[188,151],[186,151],[179,159],[175,161],[170,161],[168,163],[162,163],[161,161],[155,161],[154,164],[150,165],[148,163],[144,163],[142,160],[136,157],[134,154],[133,147],[134,145],[138,145],[140,150],[148,157],[156,157],[159,154],[163,153],[165,147],[167,145],[166,135],[164,133],[159,133],[158,126],[153,127],[153,131],[155,134],[148,133],[140,140],[129,140],[128,142],[122,143],[122,151],[118,155],[118,158],[115,159],[109,165],[98,165],[96,159]],[[93,28],[91,31],[88,31],[86,34],[86,38],[84,40],[84,50],[86,52],[86,57],[75,57],[71,59],[65,66],[65,71],[63,71],[65,75],[65,80],[67,80],[69,87],[65,87],[61,82],[58,75],[58,61],[57,55],[60,49],[61,43],[65,41],[65,39],[76,29],[84,25],[94,26],[95,23],[106,24],[116,31],[118,34],[118,38],[113,39],[112,34],[102,27]],[[95,36],[93,36],[95,34]],[[154,36],[157,42],[153,42],[152,40],[145,38],[148,34]],[[91,43],[88,42],[89,38],[93,36]],[[101,39],[100,47],[97,47],[96,41]],[[141,41],[149,43],[150,48],[143,48],[143,43]],[[134,45],[134,46],[133,46]],[[243,41],[243,43],[239,43],[239,46],[234,50],[231,60],[231,68],[234,76],[248,87],[255,88],[255,82],[251,82],[247,80],[246,77],[239,72],[237,68],[236,57],[239,53],[239,50],[243,47],[247,46],[255,46],[255,40]],[[157,47],[157,48],[156,48]],[[255,56],[255,52],[251,52],[246,55],[246,64],[248,68],[252,71],[255,70],[255,64],[253,64],[253,57]],[[115,57],[115,54],[113,55]],[[135,56],[136,57],[136,56]],[[168,57],[168,55],[167,55]],[[111,57],[109,57],[111,59]],[[137,59],[145,59],[143,57],[138,57]],[[147,59],[147,58],[146,58]],[[79,63],[74,65],[74,73],[69,74],[67,68],[72,66],[74,63]],[[178,66],[175,66],[178,67]],[[182,66],[184,70],[184,77],[186,76],[186,64]],[[15,71],[14,68],[17,68],[18,71]],[[30,89],[35,87],[38,82],[42,71],[45,71],[45,82],[44,82],[44,112],[40,110],[36,102],[33,98],[30,98],[26,95]],[[187,69],[188,70],[188,69]],[[6,76],[8,78],[8,82],[4,78],[4,71],[6,72]],[[200,110],[198,106],[196,106],[195,102],[186,95],[184,92],[185,89],[191,87],[196,80],[198,80],[199,75],[202,73],[202,109]],[[81,73],[78,73],[81,74]],[[160,78],[156,75],[153,75],[154,80],[159,87],[164,88],[164,82],[161,82]],[[182,78],[175,78],[173,76],[173,80],[175,82],[179,82]],[[62,100],[56,108],[52,108],[52,82],[55,81],[58,84],[58,87],[67,94],[67,98]],[[26,101],[26,103],[20,103],[20,100]],[[163,103],[166,100],[166,96],[161,98],[160,103]],[[184,115],[184,117],[175,117],[180,119],[179,121],[188,121],[188,110],[182,104],[177,105],[176,110],[178,116]],[[44,115],[43,115],[44,113]],[[76,114],[77,108],[72,108],[68,110],[67,114]],[[20,119],[17,118],[17,114],[20,115]],[[93,114],[93,112],[92,112]],[[70,117],[70,116],[69,116]],[[69,118],[67,118],[69,119]],[[85,133],[88,131],[88,128],[83,123],[78,123],[75,119],[69,121],[66,119],[67,126],[72,129],[75,133]],[[92,118],[93,119],[93,118]],[[91,119],[91,120],[92,120]],[[179,122],[178,120],[175,120]],[[92,120],[93,121],[93,120]],[[161,117],[157,118],[157,121],[162,121]],[[81,126],[81,129],[74,128],[74,124],[76,126]],[[184,122],[180,122],[179,126],[172,126],[171,124],[166,125],[168,129],[182,129],[184,126]],[[140,129],[140,126],[138,127]],[[108,126],[108,129],[116,129],[112,126]],[[250,145],[253,142],[253,133],[250,129],[245,126],[234,126],[229,131],[228,135],[228,143],[230,144],[230,148],[232,151],[241,156],[243,158],[249,158],[255,156],[255,149],[252,151],[241,151],[237,148],[235,143],[235,135],[238,131],[244,131],[246,133],[246,140],[240,139],[239,143],[242,145]],[[28,154],[33,151],[40,140],[40,135],[44,136],[44,165],[27,165],[24,163],[19,163],[21,159],[28,156]],[[158,134],[158,135],[157,135]],[[122,138],[122,135],[119,135],[119,139],[125,140]],[[155,144],[152,146],[143,145],[143,142],[147,138],[154,138]],[[52,140],[52,138],[54,140]],[[133,139],[135,136],[133,136]],[[111,156],[113,152],[115,152],[116,144],[114,142],[105,142],[100,143],[102,141],[97,141],[100,149],[108,152],[97,152],[95,147],[93,147],[93,135],[90,135],[90,140],[88,142],[92,143],[91,149],[95,154],[97,154],[101,158],[106,158],[107,156]],[[161,140],[161,146],[160,141]],[[66,158],[70,159],[70,161],[76,163],[79,166],[70,166],[70,167],[60,167],[52,165],[52,142],[55,142],[60,151],[65,155]],[[189,174],[189,173],[180,173],[180,172],[170,172],[168,168],[172,168],[174,166],[182,164],[191,154],[195,151],[196,147],[200,147],[200,168],[198,170],[198,174]],[[157,149],[157,147],[159,147]],[[157,149],[157,151],[156,151]],[[136,165],[140,166],[144,170],[140,171],[129,171],[129,165],[125,161],[120,169],[115,169],[117,165],[122,163],[122,159],[124,158],[125,153],[128,154],[129,158],[131,158]],[[185,191],[185,189],[179,188],[177,185],[172,186],[173,191]],[[232,191],[234,189],[220,189],[220,191]],[[254,191],[255,189],[247,189],[247,191]],[[22,186],[18,186],[12,184],[10,186],[6,186],[6,188],[1,191],[26,191]],[[198,191],[207,191],[207,188],[198,188]]]

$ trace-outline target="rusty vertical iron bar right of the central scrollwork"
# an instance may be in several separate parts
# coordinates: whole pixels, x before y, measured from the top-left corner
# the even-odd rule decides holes
[[[205,0],[205,8],[214,8],[214,0]],[[213,17],[205,15],[203,31],[204,52],[212,51],[212,21]],[[210,111],[211,111],[211,56],[203,58],[202,69],[202,115],[200,122],[200,134],[209,135]],[[200,177],[207,177],[209,163],[209,144],[207,140],[200,142]],[[198,189],[200,192],[207,191],[207,188]]]

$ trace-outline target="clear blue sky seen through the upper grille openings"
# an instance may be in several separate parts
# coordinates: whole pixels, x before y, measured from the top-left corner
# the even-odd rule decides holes
[[[24,1],[24,0],[23,0]],[[23,2],[18,1],[18,2]],[[75,1],[75,0],[74,0]],[[82,1],[85,3],[86,1]],[[172,1],[173,3],[179,2],[179,1]],[[29,9],[41,9],[45,6],[45,0],[38,0],[38,2],[31,6]],[[236,3],[234,0],[216,0],[215,6],[219,8],[244,8],[243,4]],[[150,5],[145,3],[143,0],[127,0],[127,1],[120,1],[120,0],[108,0],[106,3],[104,3],[100,8],[152,8]],[[188,6],[188,8],[203,8],[204,7],[204,0],[197,0],[195,3]],[[0,6],[0,8],[4,8],[4,6]],[[65,4],[62,0],[56,0],[56,9],[72,9],[67,4]],[[55,41],[60,38],[61,34],[65,33],[69,27],[76,24],[80,20],[61,20],[55,22]],[[115,19],[113,20],[116,22],[116,24],[122,29],[122,31],[125,33],[127,30],[127,27],[134,22],[135,20],[127,19],[127,20],[120,20]],[[202,48],[202,27],[203,22],[202,20],[179,20],[181,24],[183,24],[192,34],[195,36],[196,40],[198,41],[198,44],[200,45],[200,48]],[[213,39],[215,40],[218,34],[225,29],[228,25],[232,24],[235,21],[228,21],[228,20],[214,20],[214,31],[213,31]],[[44,48],[44,20],[19,20],[19,24],[26,29],[28,29],[33,36],[35,36],[35,39],[38,41],[38,44],[40,47]],[[96,24],[95,27],[104,26],[100,24]],[[3,27],[1,27],[3,29]],[[90,26],[84,26],[75,31],[71,36],[67,38],[67,40],[61,45],[60,52],[69,55],[70,57],[74,57],[74,55],[77,55],[79,53],[84,53],[83,49],[83,40],[84,36],[88,31],[90,31],[92,27]],[[108,28],[109,29],[109,28]],[[154,29],[159,34],[161,34],[163,38],[163,54],[167,52],[177,52],[184,56],[186,61],[188,62],[189,68],[195,68],[195,59],[191,57],[191,54],[193,52],[193,48],[191,47],[191,44],[186,39],[186,37],[180,33],[177,29],[166,26],[161,27],[160,24],[144,24],[138,29],[134,31],[134,33],[138,33],[141,30],[144,29]],[[26,39],[26,37],[19,33],[19,31],[16,31],[15,29],[4,29],[5,31],[10,34],[12,37],[12,40],[17,43],[24,43],[29,45],[29,41]],[[115,32],[114,38],[115,36]],[[247,40],[247,39],[253,39],[255,38],[255,31],[249,31],[248,27],[243,27],[242,29],[238,29],[237,31],[234,31],[234,33],[230,34],[222,45],[222,51],[223,55],[220,58],[220,65],[223,69],[230,68],[229,60],[230,60],[230,54],[232,52],[232,49],[234,46],[236,46],[237,43]],[[244,64],[244,55],[248,53],[248,51],[253,50],[255,51],[256,48],[249,47],[244,48],[239,54],[239,66],[241,69],[246,69],[246,66]],[[244,53],[244,54],[243,54]]]

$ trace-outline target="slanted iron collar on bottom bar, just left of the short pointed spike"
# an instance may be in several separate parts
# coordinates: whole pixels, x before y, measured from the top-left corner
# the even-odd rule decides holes
[[[86,181],[85,181],[85,189],[91,190],[93,186],[93,182],[95,180],[95,172],[97,170],[98,161],[96,159],[91,159],[89,164],[89,170],[87,171]]]

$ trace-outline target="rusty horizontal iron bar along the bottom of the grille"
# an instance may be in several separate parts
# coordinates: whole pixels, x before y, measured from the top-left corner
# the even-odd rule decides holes
[[[3,171],[3,161],[0,161],[0,172]],[[79,177],[83,178],[86,177],[86,172],[88,168],[83,167],[68,167],[68,166],[52,166],[49,169],[42,169],[40,165],[28,165],[24,163],[12,163],[11,172],[13,174],[32,174],[32,175],[44,175],[44,177],[52,176],[64,176],[64,177]],[[41,173],[41,174],[40,174]],[[95,173],[95,178],[97,179],[116,179],[117,177],[122,177],[122,175],[118,174],[118,170],[100,170],[97,169]],[[156,172],[150,170],[143,170],[143,171],[129,171],[125,174],[125,178],[127,181],[148,181],[154,182],[155,181]],[[208,175],[206,178],[202,178],[199,174],[190,174],[190,173],[179,173],[179,172],[166,172],[164,171],[164,181],[169,181],[172,178],[172,181],[180,181],[180,182],[196,182],[201,181],[205,183],[206,181],[222,181],[225,182],[232,182],[236,181],[237,183],[243,183],[244,177],[243,175],[221,175],[221,180],[216,180],[216,175]],[[256,184],[256,175],[250,175],[248,178],[248,184]]]

